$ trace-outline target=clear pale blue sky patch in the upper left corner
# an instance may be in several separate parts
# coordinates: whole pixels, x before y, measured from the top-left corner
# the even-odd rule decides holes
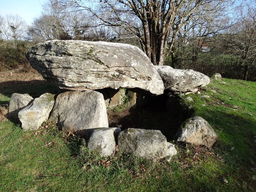
[[[42,5],[47,0],[0,0],[0,14],[18,14],[27,24],[31,24],[33,18],[38,17],[42,11]]]

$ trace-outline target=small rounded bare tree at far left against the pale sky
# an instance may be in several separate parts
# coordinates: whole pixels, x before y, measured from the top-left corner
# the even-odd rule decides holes
[[[6,40],[13,40],[13,47],[16,48],[18,40],[26,38],[27,24],[18,15],[6,15],[1,27],[1,36]]]

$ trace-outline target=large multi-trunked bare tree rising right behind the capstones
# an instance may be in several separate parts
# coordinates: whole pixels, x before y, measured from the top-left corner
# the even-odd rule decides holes
[[[148,58],[155,65],[163,65],[172,51],[181,28],[197,18],[200,10],[215,9],[223,0],[62,0],[90,11],[105,26],[119,27],[136,36]],[[170,40],[169,47],[167,43]]]

